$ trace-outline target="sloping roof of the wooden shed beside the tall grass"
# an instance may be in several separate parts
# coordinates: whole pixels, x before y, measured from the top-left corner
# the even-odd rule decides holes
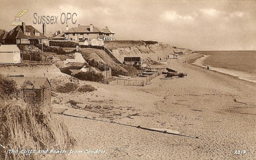
[[[47,78],[39,78],[39,77],[11,77],[11,78],[15,80],[15,82],[17,83],[18,89],[22,89],[22,86],[26,81],[30,81],[34,85],[35,89],[41,89],[41,86],[44,86],[46,81],[48,81],[48,83],[50,84]],[[32,89],[32,86],[27,85],[26,89]]]

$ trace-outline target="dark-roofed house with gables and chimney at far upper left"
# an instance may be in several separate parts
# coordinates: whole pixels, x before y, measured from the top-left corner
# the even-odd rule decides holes
[[[49,45],[49,38],[35,29],[32,25],[17,25],[9,32],[0,35],[0,43],[4,45],[42,44]]]

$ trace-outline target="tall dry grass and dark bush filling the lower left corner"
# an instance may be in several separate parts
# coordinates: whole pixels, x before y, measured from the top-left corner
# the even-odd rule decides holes
[[[20,154],[22,149],[66,149],[72,142],[64,122],[57,115],[28,106],[17,93],[15,81],[0,74],[1,160],[35,160],[44,154]],[[12,100],[11,100],[12,99]],[[10,154],[8,149],[18,150]]]

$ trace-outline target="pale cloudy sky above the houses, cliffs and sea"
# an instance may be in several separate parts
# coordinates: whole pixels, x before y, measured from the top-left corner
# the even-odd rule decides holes
[[[66,25],[93,24],[108,26],[117,40],[153,40],[193,51],[256,50],[256,0],[0,0],[0,4],[0,29],[6,31],[27,9],[20,21],[41,32],[38,16],[58,16],[57,24],[46,25],[47,36],[65,31]],[[67,13],[76,13],[75,24],[71,19],[61,24]]]

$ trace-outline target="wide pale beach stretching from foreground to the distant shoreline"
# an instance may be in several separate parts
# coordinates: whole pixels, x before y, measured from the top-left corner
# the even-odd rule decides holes
[[[199,56],[191,54],[171,59],[169,67],[187,73],[185,78],[160,79],[163,78],[160,75],[145,87],[81,82],[92,84],[98,90],[57,93],[55,98],[61,99],[61,103],[52,104],[53,107],[68,108],[66,114],[91,118],[61,115],[79,143],[76,149],[105,150],[101,154],[83,153],[81,157],[96,160],[254,160],[256,83],[188,63]],[[82,108],[91,108],[70,108],[66,103],[69,99],[81,102],[78,105]],[[254,111],[250,112],[250,108]],[[133,126],[172,129],[190,137]],[[242,150],[246,153],[235,154]],[[67,156],[68,159],[71,157]]]

